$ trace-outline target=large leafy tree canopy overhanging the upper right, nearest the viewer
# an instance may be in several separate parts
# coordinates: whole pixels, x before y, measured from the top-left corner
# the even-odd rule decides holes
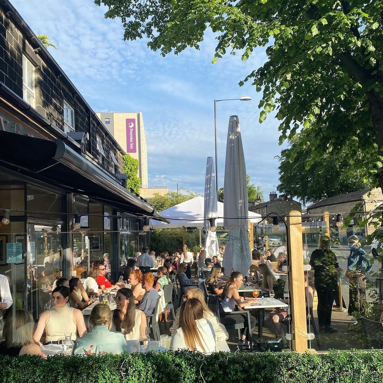
[[[250,73],[259,121],[275,110],[280,142],[301,134],[291,159],[309,146],[322,160],[331,150],[383,187],[382,0],[95,0],[120,17],[124,39],[178,54],[216,33],[213,62],[228,51],[246,61],[267,46],[267,61]],[[240,82],[240,85],[243,81]],[[363,153],[357,158],[358,151]]]

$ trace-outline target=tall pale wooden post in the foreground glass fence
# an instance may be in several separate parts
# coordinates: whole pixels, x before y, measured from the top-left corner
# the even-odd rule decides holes
[[[306,302],[304,297],[304,271],[302,257],[302,216],[291,210],[286,218],[288,273],[291,303],[291,331],[294,334],[293,350],[307,350]]]

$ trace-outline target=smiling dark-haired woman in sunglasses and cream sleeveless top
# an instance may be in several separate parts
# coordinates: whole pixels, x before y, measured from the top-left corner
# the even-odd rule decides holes
[[[121,288],[115,296],[116,309],[113,313],[112,332],[121,332],[126,340],[136,340],[146,329],[146,316],[136,308],[132,290]]]

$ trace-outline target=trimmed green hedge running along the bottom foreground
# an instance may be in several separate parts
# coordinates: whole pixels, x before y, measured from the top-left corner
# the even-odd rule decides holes
[[[216,353],[188,351],[85,357],[34,355],[0,358],[2,382],[129,383],[381,383],[380,351]]]

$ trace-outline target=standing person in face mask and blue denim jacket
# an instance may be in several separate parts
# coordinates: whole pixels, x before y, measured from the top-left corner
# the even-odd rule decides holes
[[[347,242],[350,248],[350,255],[347,259],[347,272],[345,275],[350,279],[350,301],[348,312],[349,315],[352,315],[352,313],[357,310],[356,303],[358,301],[358,278],[368,275],[371,271],[372,264],[366,257],[366,252],[360,247],[358,236],[350,236]],[[355,323],[355,320],[353,320],[353,322]]]

